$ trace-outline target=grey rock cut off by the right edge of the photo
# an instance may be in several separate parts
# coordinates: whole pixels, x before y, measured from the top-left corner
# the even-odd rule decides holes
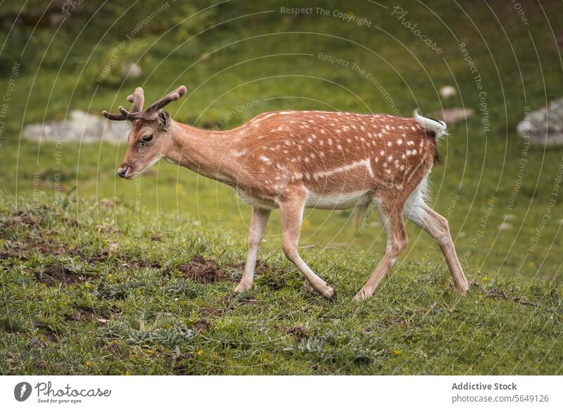
[[[551,101],[547,107],[531,111],[517,125],[517,131],[531,143],[563,144],[563,98]]]

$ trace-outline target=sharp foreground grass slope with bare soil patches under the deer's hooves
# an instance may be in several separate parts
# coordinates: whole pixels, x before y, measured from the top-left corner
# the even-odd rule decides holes
[[[253,290],[235,296],[246,249],[228,232],[127,206],[22,202],[21,213],[9,202],[3,374],[561,373],[560,285],[469,271],[460,297],[445,268],[403,261],[372,299],[353,303],[377,257],[304,249],[339,292],[329,302],[272,241]],[[215,261],[216,282],[182,268],[194,256]],[[63,269],[66,287],[51,280]]]

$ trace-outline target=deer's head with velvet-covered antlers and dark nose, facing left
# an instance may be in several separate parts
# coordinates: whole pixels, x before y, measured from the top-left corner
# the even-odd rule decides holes
[[[172,144],[169,135],[172,119],[162,108],[184,94],[186,87],[182,85],[143,110],[144,92],[141,87],[137,87],[135,92],[127,97],[127,101],[133,104],[131,111],[122,106],[119,107],[118,114],[102,111],[103,116],[109,120],[132,122],[131,132],[127,137],[129,147],[118,168],[120,177],[134,178],[165,156]]]

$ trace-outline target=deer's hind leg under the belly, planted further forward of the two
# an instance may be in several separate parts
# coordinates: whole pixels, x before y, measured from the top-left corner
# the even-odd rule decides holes
[[[377,212],[379,213],[379,218],[384,224],[384,228],[387,234],[387,247],[385,249],[385,254],[383,259],[375,268],[372,276],[367,280],[366,284],[362,287],[360,292],[358,292],[354,299],[355,301],[365,300],[372,296],[379,282],[384,278],[387,271],[393,266],[397,256],[400,252],[405,249],[408,244],[407,232],[405,230],[405,225],[403,224],[403,206],[400,204],[393,204],[393,208],[388,209],[385,204],[381,203],[376,199]]]

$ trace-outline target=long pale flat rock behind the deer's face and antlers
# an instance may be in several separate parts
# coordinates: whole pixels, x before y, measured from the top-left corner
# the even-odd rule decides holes
[[[110,142],[127,144],[131,125],[125,121],[110,121],[93,113],[74,110],[62,121],[25,125],[23,137],[36,142]]]

